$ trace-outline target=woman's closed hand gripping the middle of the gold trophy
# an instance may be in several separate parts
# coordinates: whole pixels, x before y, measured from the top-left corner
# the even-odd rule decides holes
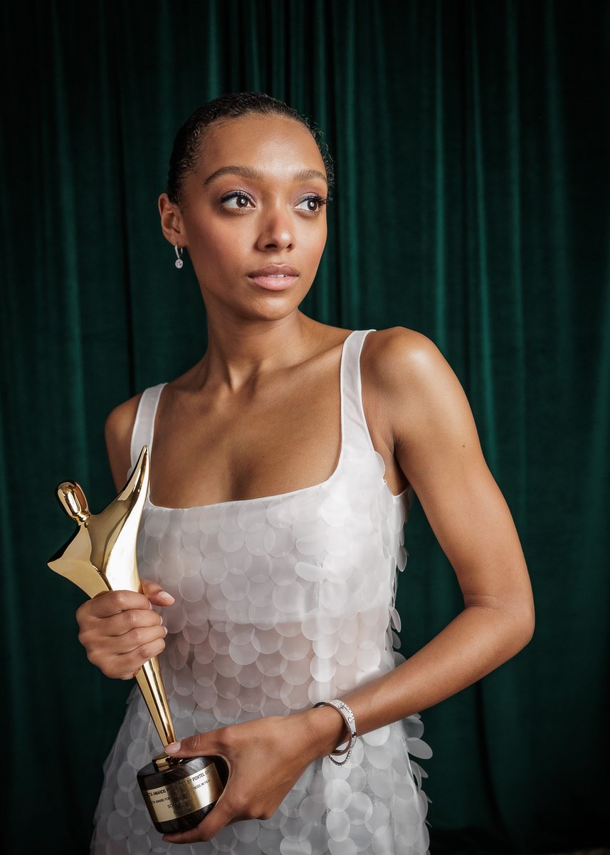
[[[155,582],[142,580],[144,593],[109,591],[76,612],[79,641],[87,658],[107,677],[130,680],[165,647],[167,629],[153,605],[171,605],[173,597]]]

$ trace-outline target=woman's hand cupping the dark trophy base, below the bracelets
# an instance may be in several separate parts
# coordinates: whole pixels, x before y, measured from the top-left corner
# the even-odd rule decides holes
[[[238,820],[272,817],[308,765],[323,756],[322,732],[314,725],[312,712],[266,716],[167,746],[167,753],[173,757],[223,758],[229,767],[229,778],[220,799],[196,828],[164,834],[163,840],[170,843],[211,840],[226,825]],[[339,716],[332,720],[331,727],[341,733]],[[179,746],[179,750],[168,750],[174,746]]]

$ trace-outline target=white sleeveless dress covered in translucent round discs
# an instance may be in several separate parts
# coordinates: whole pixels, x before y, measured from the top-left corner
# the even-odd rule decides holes
[[[360,354],[341,357],[341,452],[321,484],[279,496],[195,508],[147,503],[138,566],[176,598],[161,669],[179,738],[259,716],[287,716],[341,698],[404,657],[396,567],[407,553],[410,494],[393,496],[362,408]],[[132,434],[132,466],[151,449],[165,384],[147,389]],[[167,844],[150,822],[136,773],[161,750],[134,689],[104,766],[92,841],[96,855],[425,855],[428,799],[416,758],[431,756],[419,714],[364,734],[349,761],[311,764],[273,817],[224,828],[213,840]]]

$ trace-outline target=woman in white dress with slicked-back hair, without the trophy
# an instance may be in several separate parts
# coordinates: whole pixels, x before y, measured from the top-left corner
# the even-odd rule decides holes
[[[95,852],[426,852],[418,713],[531,638],[518,536],[437,348],[299,311],[330,185],[315,129],[261,93],[208,103],[177,135],[161,228],[191,258],[208,349],[109,416],[117,487],[151,450],[149,581],[81,606],[79,638],[122,679],[161,654],[182,737],[168,751],[225,758],[230,776],[202,823],[161,840],[135,789],[160,746],[133,693]],[[465,607],[405,661],[390,617],[413,492]],[[315,706],[335,699],[347,708]]]

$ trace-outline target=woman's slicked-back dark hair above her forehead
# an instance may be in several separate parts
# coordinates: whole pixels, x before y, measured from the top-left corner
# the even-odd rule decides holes
[[[214,124],[214,121],[238,119],[251,113],[284,115],[300,122],[303,127],[307,127],[324,161],[328,180],[328,197],[331,198],[335,172],[328,146],[322,140],[320,128],[313,121],[297,113],[296,109],[289,107],[284,101],[266,95],[265,92],[227,92],[226,95],[214,98],[214,101],[208,101],[196,109],[176,134],[167,174],[167,196],[170,202],[180,204],[185,175],[196,170],[201,156],[202,140],[208,127]]]

